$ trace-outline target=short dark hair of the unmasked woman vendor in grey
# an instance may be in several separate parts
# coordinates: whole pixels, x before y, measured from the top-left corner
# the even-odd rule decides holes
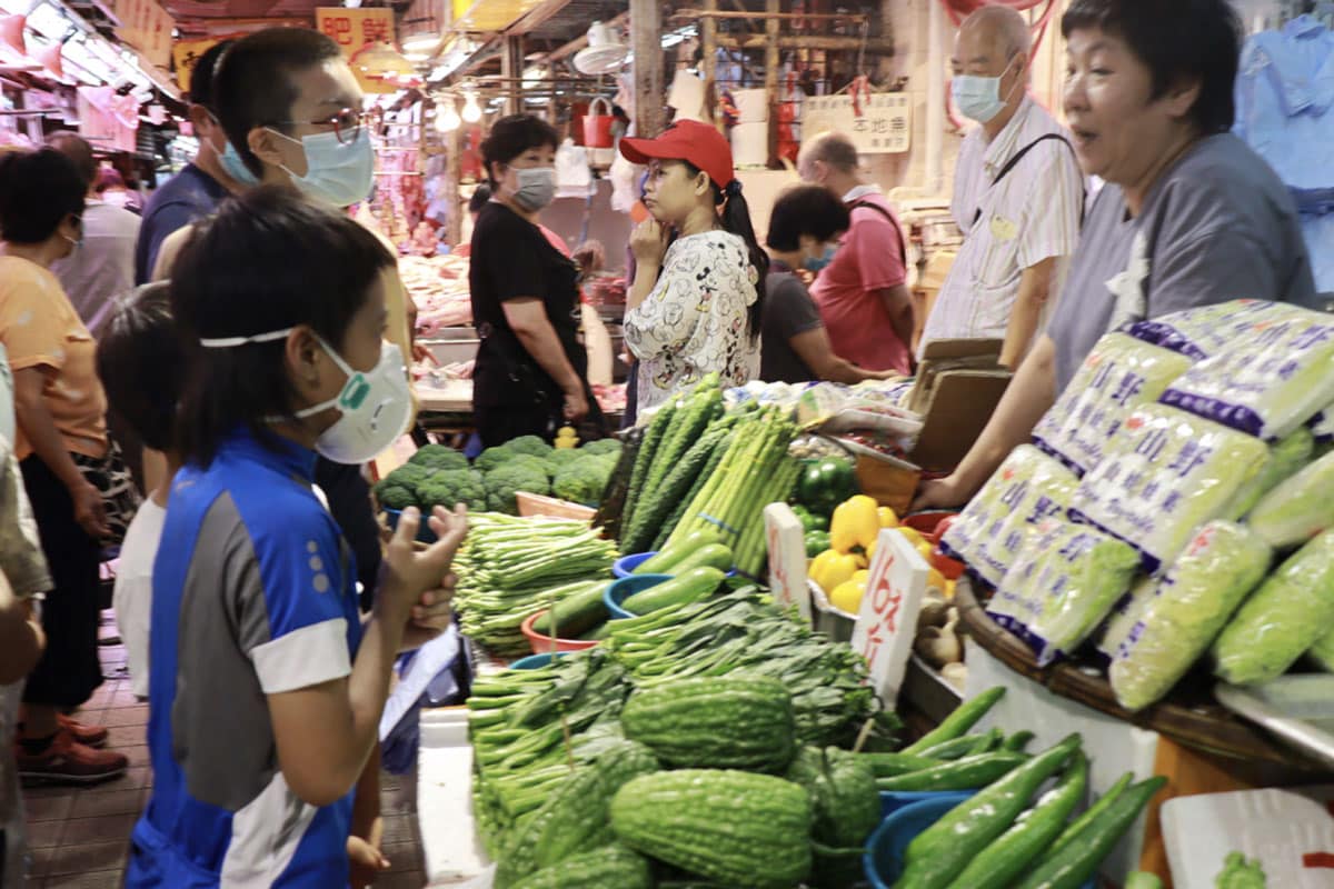
[[[1153,77],[1153,97],[1183,77],[1199,79],[1190,116],[1206,135],[1231,129],[1233,88],[1242,52],[1242,27],[1227,0],[1074,0],[1061,33],[1098,28],[1123,39]]]

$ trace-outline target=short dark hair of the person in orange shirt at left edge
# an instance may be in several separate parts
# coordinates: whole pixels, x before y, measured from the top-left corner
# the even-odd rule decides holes
[[[87,192],[73,161],[53,148],[0,155],[0,239],[41,244],[67,216],[83,216]]]

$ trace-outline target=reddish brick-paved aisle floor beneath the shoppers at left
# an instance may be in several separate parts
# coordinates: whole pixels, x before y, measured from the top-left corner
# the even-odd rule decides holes
[[[101,634],[115,636],[111,612],[104,613]],[[29,788],[28,844],[32,849],[29,889],[116,889],[125,868],[129,833],[148,800],[152,774],[148,768],[148,706],[135,700],[125,678],[125,646],[101,648],[107,681],[81,717],[111,729],[111,745],[129,757],[129,770],[95,788]],[[426,885],[422,838],[416,824],[414,776],[382,777],[384,853],[394,869],[376,888],[422,889]]]

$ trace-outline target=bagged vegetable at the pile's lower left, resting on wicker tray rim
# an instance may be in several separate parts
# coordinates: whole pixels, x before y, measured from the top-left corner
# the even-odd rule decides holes
[[[1006,573],[987,613],[1046,665],[1073,652],[1130,589],[1139,556],[1089,525],[1045,520]]]

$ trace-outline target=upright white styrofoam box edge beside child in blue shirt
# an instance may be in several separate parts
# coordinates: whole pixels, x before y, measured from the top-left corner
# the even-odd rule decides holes
[[[487,889],[491,885],[491,862],[472,818],[467,708],[422,710],[418,824],[432,886]]]

